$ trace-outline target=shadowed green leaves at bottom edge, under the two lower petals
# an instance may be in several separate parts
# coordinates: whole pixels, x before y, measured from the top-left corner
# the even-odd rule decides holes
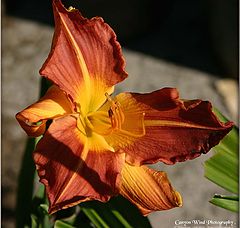
[[[80,204],[80,208],[97,228],[151,227],[148,219],[142,216],[130,202],[120,196],[107,203],[84,202]]]

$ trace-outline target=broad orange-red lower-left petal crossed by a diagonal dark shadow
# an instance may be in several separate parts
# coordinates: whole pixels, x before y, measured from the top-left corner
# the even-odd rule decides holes
[[[56,119],[34,152],[50,213],[86,200],[107,201],[117,193],[124,154],[94,151],[80,134],[74,117]]]

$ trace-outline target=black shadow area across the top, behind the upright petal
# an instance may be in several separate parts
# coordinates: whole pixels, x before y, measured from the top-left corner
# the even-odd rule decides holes
[[[123,47],[224,77],[238,77],[237,0],[63,0],[102,16]],[[15,17],[53,25],[50,0],[7,0]]]

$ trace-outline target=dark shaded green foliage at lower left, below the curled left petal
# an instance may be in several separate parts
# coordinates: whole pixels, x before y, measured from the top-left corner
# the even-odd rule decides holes
[[[16,210],[17,227],[51,227],[47,205],[45,204],[44,186],[39,185],[38,191],[33,197],[33,185],[35,177],[35,165],[32,160],[32,152],[41,139],[28,139],[24,159],[22,161],[19,176],[18,204]],[[31,214],[31,215],[30,215]]]

